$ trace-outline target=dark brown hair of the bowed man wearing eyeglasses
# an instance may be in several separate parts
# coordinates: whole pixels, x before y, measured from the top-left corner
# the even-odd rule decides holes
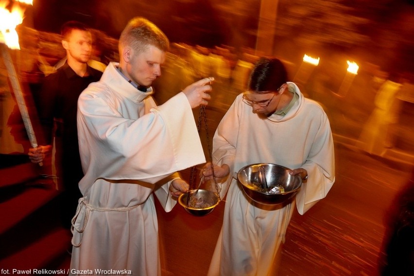
[[[288,81],[288,73],[277,58],[260,57],[250,74],[248,89],[255,92],[276,91]]]

